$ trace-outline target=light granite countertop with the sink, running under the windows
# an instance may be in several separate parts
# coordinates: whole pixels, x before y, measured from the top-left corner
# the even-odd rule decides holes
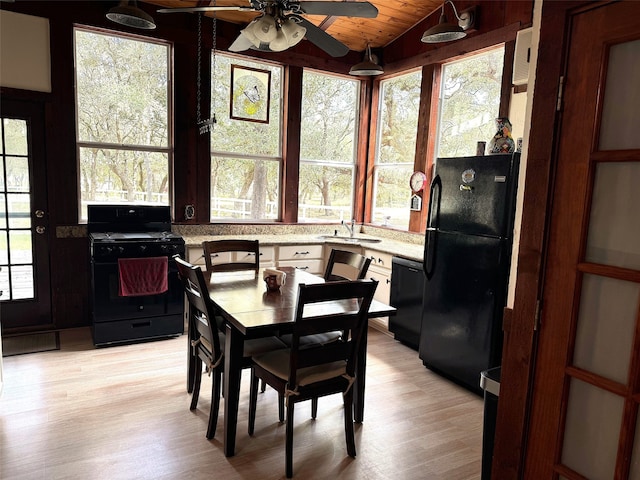
[[[321,234],[252,234],[252,235],[183,235],[184,241],[188,247],[200,247],[206,240],[230,240],[230,239],[252,239],[258,240],[261,245],[345,245],[359,246],[366,250],[375,250],[390,255],[403,257],[409,260],[422,261],[423,245],[416,243],[403,242],[396,239],[377,237],[374,235],[366,235],[362,233],[356,234],[356,237],[363,239],[380,239],[380,242],[354,243],[347,239],[327,237]]]

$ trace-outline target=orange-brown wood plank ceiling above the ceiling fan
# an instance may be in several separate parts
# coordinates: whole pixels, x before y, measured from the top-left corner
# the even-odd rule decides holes
[[[369,1],[378,9],[376,18],[325,17],[318,15],[305,15],[305,18],[320,26],[329,35],[340,40],[349,49],[362,52],[366,49],[367,43],[371,45],[371,48],[387,46],[442,6],[441,0]],[[214,2],[213,0],[145,0],[144,3],[156,5],[159,8],[178,8],[213,5]],[[301,0],[301,3],[304,4],[304,0]],[[249,0],[216,0],[216,5],[248,6]],[[451,14],[451,12],[447,13]],[[213,13],[209,12],[206,15],[212,17]],[[256,16],[257,13],[255,12],[217,12],[218,19],[239,25],[248,24]]]

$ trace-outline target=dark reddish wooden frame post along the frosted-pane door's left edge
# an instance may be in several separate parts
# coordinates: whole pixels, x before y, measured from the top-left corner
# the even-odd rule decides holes
[[[522,478],[535,372],[539,299],[544,288],[544,262],[549,232],[551,192],[557,162],[556,109],[572,15],[611,1],[545,1],[529,133],[526,189],[518,252],[513,312],[505,316],[500,397],[492,478]]]

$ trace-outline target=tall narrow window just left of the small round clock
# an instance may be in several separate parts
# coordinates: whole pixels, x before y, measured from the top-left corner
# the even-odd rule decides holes
[[[422,71],[380,82],[372,223],[409,228]]]

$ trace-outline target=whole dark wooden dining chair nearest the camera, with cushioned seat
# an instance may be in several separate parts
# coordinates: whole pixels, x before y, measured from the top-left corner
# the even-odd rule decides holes
[[[367,328],[367,313],[378,285],[375,280],[301,284],[295,307],[291,348],[253,357],[249,395],[249,435],[253,435],[262,379],[286,399],[285,470],[293,476],[294,406],[298,402],[342,393],[347,453],[356,456],[353,428],[353,383],[356,359]],[[349,332],[348,340],[314,348],[304,347],[302,337],[329,331]],[[312,418],[316,412],[312,409]]]

